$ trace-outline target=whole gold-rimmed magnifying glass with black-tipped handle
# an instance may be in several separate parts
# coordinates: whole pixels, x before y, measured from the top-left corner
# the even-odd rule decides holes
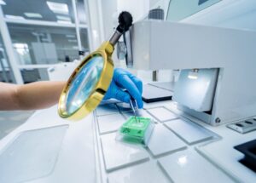
[[[113,77],[114,45],[132,24],[131,14],[119,14],[119,26],[109,41],[89,54],[69,77],[58,105],[60,117],[79,120],[96,109],[108,90]]]

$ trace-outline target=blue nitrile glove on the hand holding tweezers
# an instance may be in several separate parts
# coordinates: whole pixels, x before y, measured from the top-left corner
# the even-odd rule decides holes
[[[127,90],[127,92],[124,91]],[[143,108],[143,82],[124,69],[114,69],[113,78],[104,100],[111,98],[130,103],[131,97],[137,100],[137,106]]]

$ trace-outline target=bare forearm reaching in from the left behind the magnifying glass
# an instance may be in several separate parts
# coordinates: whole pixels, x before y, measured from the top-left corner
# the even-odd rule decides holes
[[[55,105],[66,82],[0,83],[0,110],[35,110]]]

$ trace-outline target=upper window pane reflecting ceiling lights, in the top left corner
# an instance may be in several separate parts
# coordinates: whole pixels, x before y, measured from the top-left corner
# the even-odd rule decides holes
[[[73,23],[72,0],[8,0],[3,6],[5,18]]]

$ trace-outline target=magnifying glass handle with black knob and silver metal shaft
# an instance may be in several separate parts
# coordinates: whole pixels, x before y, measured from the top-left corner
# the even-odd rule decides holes
[[[129,12],[123,11],[119,14],[119,26],[113,32],[112,37],[109,39],[109,43],[113,46],[118,42],[119,38],[128,31],[132,25],[132,16]]]

